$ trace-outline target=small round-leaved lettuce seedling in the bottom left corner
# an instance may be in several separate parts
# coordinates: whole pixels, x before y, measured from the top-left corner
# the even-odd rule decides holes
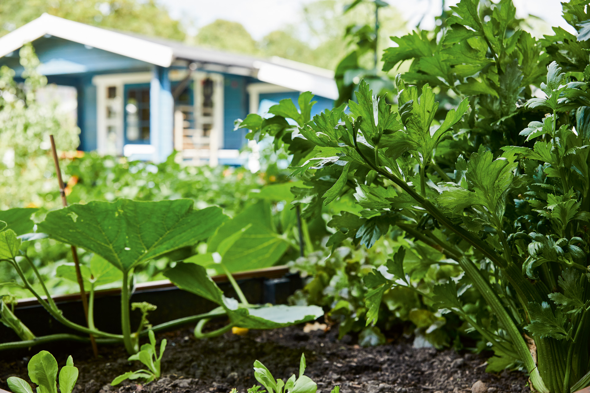
[[[47,351],[41,351],[33,356],[27,366],[29,378],[38,385],[37,393],[57,393],[57,361]],[[71,393],[78,380],[78,369],[74,367],[71,356],[60,371],[60,392]],[[13,393],[33,393],[31,385],[22,378],[10,377],[6,381]]]

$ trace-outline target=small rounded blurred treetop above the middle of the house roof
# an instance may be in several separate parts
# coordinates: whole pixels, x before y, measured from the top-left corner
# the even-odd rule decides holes
[[[195,45],[221,49],[228,52],[238,52],[258,55],[258,43],[239,22],[217,19],[201,29],[195,39]]]

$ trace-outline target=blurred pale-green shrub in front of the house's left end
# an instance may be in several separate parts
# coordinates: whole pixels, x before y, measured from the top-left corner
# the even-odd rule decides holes
[[[80,130],[57,102],[39,99],[47,78],[37,71],[32,45],[24,45],[19,55],[23,83],[15,82],[13,70],[0,67],[0,209],[28,203],[53,208],[60,204],[53,199],[57,183],[49,136],[55,136],[60,151],[76,150]]]

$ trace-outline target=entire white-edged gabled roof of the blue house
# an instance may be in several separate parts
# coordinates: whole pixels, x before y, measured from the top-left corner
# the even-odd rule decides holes
[[[338,97],[333,72],[323,68],[277,57],[263,60],[192,47],[181,42],[103,29],[48,14],[0,37],[0,57],[44,35],[53,35],[162,67],[170,67],[175,60],[221,65],[228,67],[229,73],[232,67],[239,67],[250,70],[252,76],[263,82],[297,91],[309,90],[326,98]]]

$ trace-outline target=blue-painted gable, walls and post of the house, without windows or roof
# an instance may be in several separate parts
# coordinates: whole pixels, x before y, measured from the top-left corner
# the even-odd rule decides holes
[[[150,142],[156,144],[157,159],[165,158],[166,152],[172,151],[172,110],[166,112],[164,108],[172,109],[172,96],[170,94],[171,83],[168,79],[168,72],[171,68],[156,67],[147,62],[135,60],[113,52],[104,51],[77,42],[68,41],[57,37],[41,37],[33,43],[35,52],[41,65],[38,68],[42,74],[47,76],[49,83],[75,87],[77,90],[77,121],[81,129],[80,150],[97,149],[97,87],[93,85],[93,77],[103,74],[116,74],[121,72],[152,72],[153,90],[150,94],[158,94],[153,97],[151,105],[160,108],[153,110],[153,122],[150,121],[151,133]],[[0,58],[0,66],[8,65],[15,70],[17,77],[22,74],[23,67],[19,64],[18,51]],[[253,82],[260,82],[255,78],[223,74],[224,77],[224,114],[223,132],[224,149],[240,149],[247,142],[245,134],[247,130],[234,131],[234,121],[237,118],[244,118],[250,108],[250,97],[247,86]],[[261,93],[260,101],[267,100],[269,103],[278,103],[285,98],[291,98],[295,105],[299,92],[291,91],[285,93]],[[312,116],[332,108],[333,100],[328,98],[314,97],[318,101],[312,110]],[[259,104],[260,104],[259,101]],[[152,112],[150,110],[150,112]],[[158,136],[155,134],[158,133]],[[166,134],[166,135],[164,135]]]

